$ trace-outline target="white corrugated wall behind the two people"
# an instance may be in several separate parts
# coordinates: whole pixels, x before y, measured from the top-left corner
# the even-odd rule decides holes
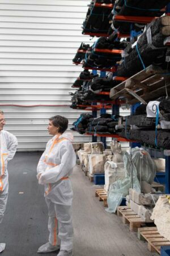
[[[19,150],[44,149],[52,115],[65,115],[71,127],[82,113],[60,105],[70,104],[71,85],[82,71],[72,64],[76,50],[81,42],[92,44],[81,28],[89,3],[0,0],[0,108]],[[46,106],[25,107],[30,105]],[[91,140],[74,136],[76,142]]]

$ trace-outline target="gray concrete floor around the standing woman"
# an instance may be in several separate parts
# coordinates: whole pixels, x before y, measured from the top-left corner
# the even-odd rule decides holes
[[[48,213],[44,188],[37,183],[36,166],[41,153],[18,152],[8,164],[9,197],[0,228],[6,242],[2,256],[36,256],[48,241]],[[149,256],[147,243],[139,241],[115,214],[105,212],[95,197],[96,186],[76,167],[71,177],[74,190],[74,256]],[[44,254],[56,255],[56,253]]]

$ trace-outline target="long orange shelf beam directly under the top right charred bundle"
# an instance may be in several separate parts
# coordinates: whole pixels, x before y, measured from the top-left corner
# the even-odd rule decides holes
[[[158,17],[145,17],[145,16],[124,16],[124,15],[115,15],[114,20],[122,22],[137,22],[137,23],[150,23],[153,19]]]

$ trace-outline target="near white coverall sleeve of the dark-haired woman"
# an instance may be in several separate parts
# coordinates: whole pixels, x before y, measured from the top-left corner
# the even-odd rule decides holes
[[[61,163],[43,172],[39,179],[40,184],[55,183],[66,177],[76,164],[74,148],[69,141],[62,142],[59,149]]]

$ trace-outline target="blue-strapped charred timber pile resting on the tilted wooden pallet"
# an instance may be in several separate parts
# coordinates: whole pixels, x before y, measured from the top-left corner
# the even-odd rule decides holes
[[[130,43],[124,50],[124,60],[117,69],[117,76],[130,77],[148,65],[165,68],[167,47],[164,39],[170,35],[170,16],[163,16],[148,24],[136,45]]]

